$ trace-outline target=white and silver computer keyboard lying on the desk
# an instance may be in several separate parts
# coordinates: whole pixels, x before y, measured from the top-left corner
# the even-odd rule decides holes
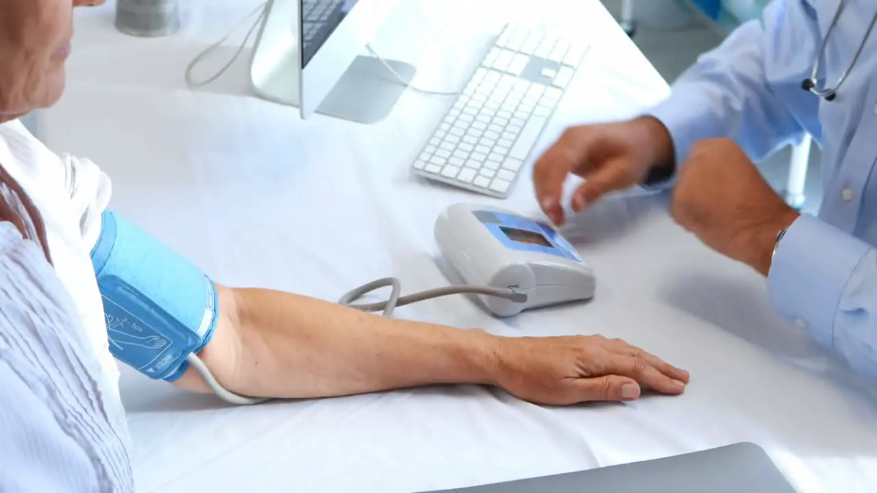
[[[508,197],[587,51],[585,43],[507,25],[411,173]]]

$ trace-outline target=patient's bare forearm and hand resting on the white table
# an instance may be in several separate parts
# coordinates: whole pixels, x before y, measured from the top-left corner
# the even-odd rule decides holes
[[[268,289],[217,286],[220,319],[200,357],[250,397],[334,397],[439,383],[502,387],[541,404],[680,394],[688,373],[617,339],[503,338]],[[194,368],[176,382],[209,392]]]

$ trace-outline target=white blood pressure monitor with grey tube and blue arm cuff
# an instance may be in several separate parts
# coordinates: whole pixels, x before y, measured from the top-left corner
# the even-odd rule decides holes
[[[391,317],[398,306],[435,297],[471,294],[497,317],[593,297],[594,275],[553,228],[510,211],[458,204],[439,217],[439,248],[463,284],[400,296],[388,277],[353,289],[339,300]],[[175,382],[192,366],[216,395],[231,404],[267,398],[225,389],[198,358],[213,336],[219,313],[216,284],[190,261],[132,223],[105,211],[91,251],[103,297],[110,351],[144,375]],[[387,301],[353,304],[374,289],[392,287]]]

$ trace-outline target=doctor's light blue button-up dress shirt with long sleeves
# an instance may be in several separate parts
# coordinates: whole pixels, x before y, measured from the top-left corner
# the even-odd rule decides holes
[[[802,89],[837,0],[774,0],[674,82],[650,111],[671,133],[681,162],[699,139],[731,137],[753,160],[809,132],[823,150],[824,196],[780,243],[767,278],[783,318],[859,372],[877,377],[877,15],[873,0],[847,0],[817,77],[827,102]]]

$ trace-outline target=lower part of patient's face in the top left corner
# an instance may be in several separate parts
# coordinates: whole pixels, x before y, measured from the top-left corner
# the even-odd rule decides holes
[[[73,9],[104,1],[0,0],[0,122],[58,101]]]

